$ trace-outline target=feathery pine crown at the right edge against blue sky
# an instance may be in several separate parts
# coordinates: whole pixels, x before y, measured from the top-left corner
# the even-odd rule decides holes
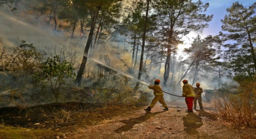
[[[236,74],[254,76],[256,74],[256,3],[248,8],[239,2],[233,3],[227,8],[228,15],[221,20],[223,31],[228,34],[220,33],[224,40],[233,40],[233,44],[225,44],[228,48],[225,51],[225,58],[231,62],[231,67]]]

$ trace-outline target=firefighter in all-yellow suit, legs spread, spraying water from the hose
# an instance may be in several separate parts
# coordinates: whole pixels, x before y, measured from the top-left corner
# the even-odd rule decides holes
[[[155,82],[154,82],[155,85],[149,85],[149,89],[154,90],[155,97],[153,98],[150,106],[145,108],[144,110],[150,111],[151,108],[154,107],[154,105],[156,104],[157,101],[159,101],[163,105],[163,107],[164,107],[163,110],[169,110],[168,106],[164,102],[164,93],[163,93],[163,90],[162,90],[161,86],[159,85],[160,82],[161,81],[159,79],[156,79]]]

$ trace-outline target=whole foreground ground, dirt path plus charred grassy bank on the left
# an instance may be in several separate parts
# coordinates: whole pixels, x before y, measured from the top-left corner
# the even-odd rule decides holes
[[[147,106],[52,103],[30,108],[0,108],[0,139],[256,139],[256,129],[234,128],[204,110],[186,113],[185,102]]]

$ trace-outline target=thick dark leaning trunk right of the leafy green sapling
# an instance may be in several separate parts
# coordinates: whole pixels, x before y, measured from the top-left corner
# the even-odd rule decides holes
[[[80,68],[78,70],[76,80],[75,80],[75,83],[78,86],[81,86],[81,79],[82,79],[83,73],[85,71],[85,65],[86,65],[86,62],[87,62],[88,51],[89,51],[89,48],[90,48],[90,45],[91,45],[91,42],[92,42],[93,31],[94,31],[94,27],[95,27],[95,24],[96,24],[97,15],[98,15],[99,10],[100,10],[101,7],[102,6],[97,7],[97,10],[95,11],[93,19],[92,19],[91,29],[90,29],[90,33],[89,33],[89,36],[88,36],[86,46],[85,46],[83,60],[82,60],[82,63],[80,65]]]

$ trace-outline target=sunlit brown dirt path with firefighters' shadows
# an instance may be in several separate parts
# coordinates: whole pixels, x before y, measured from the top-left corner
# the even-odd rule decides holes
[[[143,108],[80,128],[68,134],[70,139],[256,139],[255,129],[233,129],[217,119],[210,108],[186,113],[185,102],[169,104],[163,111],[159,104],[151,112]],[[206,105],[206,104],[205,104]]]

